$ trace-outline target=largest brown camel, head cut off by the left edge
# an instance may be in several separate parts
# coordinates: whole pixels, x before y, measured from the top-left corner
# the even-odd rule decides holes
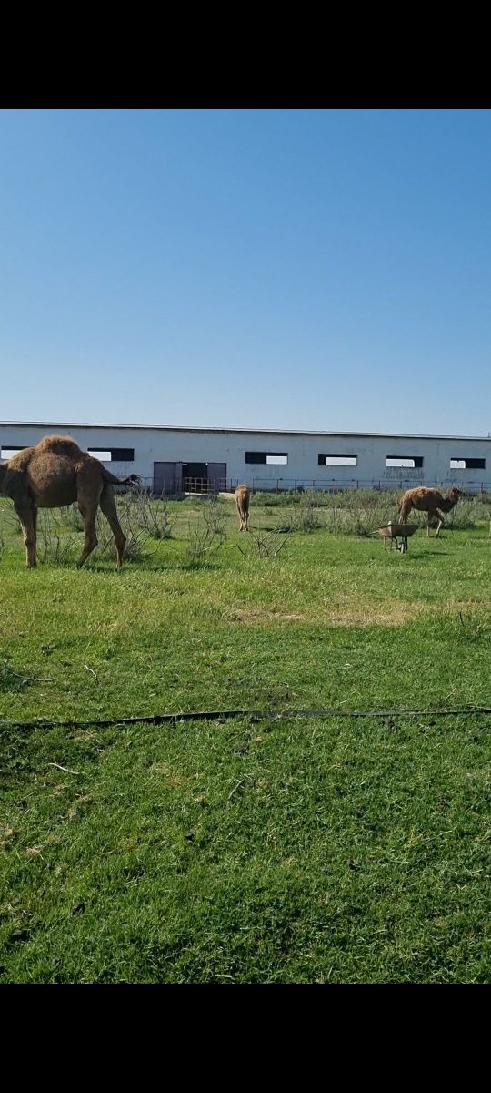
[[[36,565],[36,522],[38,508],[61,508],[79,503],[85,525],[85,543],[79,566],[97,546],[96,515],[100,508],[108,520],[116,543],[118,569],[121,568],[125,536],[116,509],[113,485],[137,482],[139,474],[118,479],[70,436],[45,436],[35,448],[23,448],[0,465],[0,494],[11,497],[21,521],[27,568]]]

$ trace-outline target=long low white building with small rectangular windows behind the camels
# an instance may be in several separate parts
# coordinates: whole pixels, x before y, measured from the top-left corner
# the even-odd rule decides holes
[[[44,436],[72,436],[117,475],[135,471],[155,492],[388,489],[426,484],[491,490],[491,437],[394,433],[302,433],[157,425],[0,423],[9,459]]]

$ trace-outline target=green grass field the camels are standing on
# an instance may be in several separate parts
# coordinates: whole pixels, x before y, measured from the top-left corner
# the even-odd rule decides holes
[[[400,555],[393,501],[170,503],[117,573],[0,498],[1,980],[490,980],[490,717],[435,713],[491,706],[489,505]]]

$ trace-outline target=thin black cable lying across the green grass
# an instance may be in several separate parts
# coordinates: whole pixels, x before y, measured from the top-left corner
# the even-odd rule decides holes
[[[246,717],[251,720],[287,720],[295,717],[325,718],[394,718],[394,717],[470,717],[490,715],[491,706],[457,706],[452,709],[435,707],[434,709],[200,709],[181,714],[146,714],[141,717],[108,717],[93,718],[88,721],[75,721],[65,718],[61,721],[7,721],[0,720],[0,729],[108,729],[118,725],[176,725],[178,721],[220,721],[233,717]]]

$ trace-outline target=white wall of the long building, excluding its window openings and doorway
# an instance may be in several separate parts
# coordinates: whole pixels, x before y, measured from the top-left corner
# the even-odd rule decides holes
[[[25,447],[43,436],[60,433],[73,438],[84,450],[93,448],[133,448],[133,462],[111,462],[115,474],[132,471],[148,483],[154,462],[225,462],[232,484],[248,482],[256,487],[291,489],[355,486],[357,483],[381,486],[426,483],[459,483],[469,487],[491,487],[491,438],[421,437],[355,433],[267,433],[230,430],[187,430],[109,425],[41,425],[0,423],[0,446]],[[246,463],[246,451],[287,453],[287,466]],[[319,466],[319,454],[356,455],[356,467]],[[422,457],[418,468],[387,468],[387,456]],[[486,469],[451,470],[451,458],[479,458]]]

